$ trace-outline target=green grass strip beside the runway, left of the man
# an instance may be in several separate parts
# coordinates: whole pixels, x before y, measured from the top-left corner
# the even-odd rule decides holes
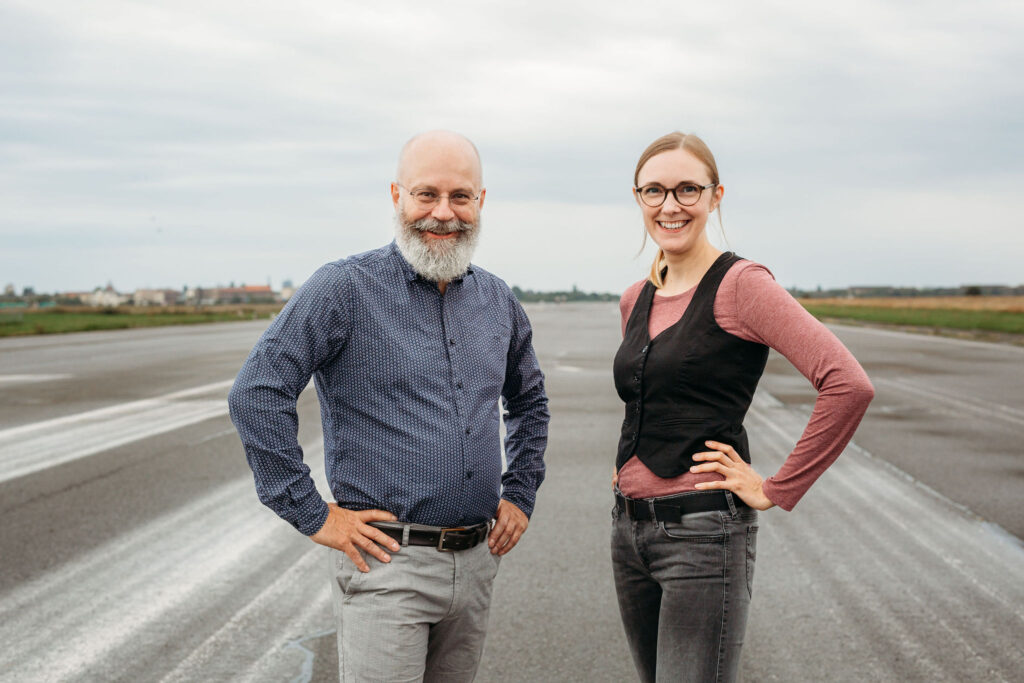
[[[121,312],[117,309],[92,312],[67,310],[24,311],[0,313],[0,337],[52,335],[92,330],[123,330],[153,328],[166,325],[198,325],[255,321],[272,314],[265,310],[200,311],[200,312]]]

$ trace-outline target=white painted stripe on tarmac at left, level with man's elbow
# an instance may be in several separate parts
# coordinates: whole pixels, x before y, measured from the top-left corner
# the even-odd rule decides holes
[[[0,431],[0,482],[227,414],[227,402],[197,399],[233,380]]]

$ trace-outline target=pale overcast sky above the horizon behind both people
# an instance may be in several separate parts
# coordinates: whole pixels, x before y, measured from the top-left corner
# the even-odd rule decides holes
[[[1019,285],[1022,35],[1016,0],[0,0],[0,286],[299,284],[390,241],[431,128],[480,148],[510,285],[642,278],[672,130],[786,287]]]

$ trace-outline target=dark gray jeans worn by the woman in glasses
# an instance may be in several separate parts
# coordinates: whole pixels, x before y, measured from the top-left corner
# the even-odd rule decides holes
[[[612,510],[615,592],[640,680],[736,680],[757,519],[745,507],[695,512],[678,523],[633,521]]]

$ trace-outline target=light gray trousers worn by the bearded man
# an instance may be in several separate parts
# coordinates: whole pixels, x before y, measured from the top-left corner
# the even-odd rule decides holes
[[[472,681],[500,559],[486,543],[439,552],[406,546],[370,571],[331,550],[341,683]]]

